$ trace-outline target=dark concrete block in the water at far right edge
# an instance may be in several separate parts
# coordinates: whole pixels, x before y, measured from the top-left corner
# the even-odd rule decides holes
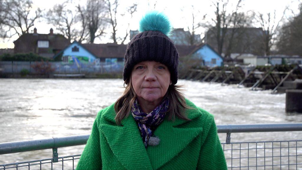
[[[302,90],[286,90],[286,113],[302,113]]]

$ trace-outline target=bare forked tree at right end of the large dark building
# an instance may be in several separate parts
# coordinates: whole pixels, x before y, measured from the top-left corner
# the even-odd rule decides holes
[[[261,28],[263,29],[263,47],[265,50],[265,55],[270,55],[271,53],[271,47],[275,43],[275,35],[280,29],[281,21],[284,18],[285,12],[288,10],[288,7],[286,7],[283,11],[283,15],[280,20],[277,21],[276,19],[276,10],[274,13],[267,13],[266,15],[262,13],[258,13],[257,15],[257,21],[261,25]]]

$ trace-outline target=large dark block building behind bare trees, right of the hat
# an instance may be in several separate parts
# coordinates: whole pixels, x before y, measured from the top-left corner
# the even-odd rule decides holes
[[[232,34],[231,48],[228,49]],[[218,51],[215,28],[211,28],[205,33],[205,43]],[[230,53],[264,55],[262,28],[227,28],[222,49],[223,57],[229,52],[228,50]]]

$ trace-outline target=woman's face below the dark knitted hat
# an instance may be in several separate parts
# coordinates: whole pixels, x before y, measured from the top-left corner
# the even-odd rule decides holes
[[[170,71],[159,62],[143,61],[133,67],[131,81],[139,101],[159,103],[171,83]]]

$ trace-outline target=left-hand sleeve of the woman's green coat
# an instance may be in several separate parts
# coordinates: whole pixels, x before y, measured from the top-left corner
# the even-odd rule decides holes
[[[98,116],[100,113],[98,113]],[[102,169],[98,116],[93,123],[91,135],[89,136],[76,170]]]

